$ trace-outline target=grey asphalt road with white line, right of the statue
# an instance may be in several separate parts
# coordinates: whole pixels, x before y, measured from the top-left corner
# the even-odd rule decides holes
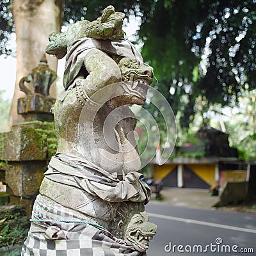
[[[256,255],[256,214],[157,202],[146,205],[146,211],[158,226],[147,256]]]

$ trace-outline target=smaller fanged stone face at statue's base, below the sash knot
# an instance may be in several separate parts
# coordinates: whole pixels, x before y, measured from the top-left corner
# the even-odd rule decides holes
[[[124,239],[131,242],[132,247],[139,252],[145,252],[149,246],[149,240],[156,235],[157,226],[148,222],[148,214],[143,211],[132,216]]]

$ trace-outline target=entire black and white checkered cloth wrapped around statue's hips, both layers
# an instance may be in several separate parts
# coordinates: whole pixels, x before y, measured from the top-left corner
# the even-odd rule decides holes
[[[76,214],[63,211],[61,205],[38,196],[33,209],[33,222],[22,248],[22,256],[145,256],[134,251],[125,241],[116,239],[104,228],[79,221]],[[39,222],[45,220],[45,222]],[[81,220],[81,219],[80,219]],[[83,221],[83,220],[82,220]],[[92,223],[93,224],[93,223]],[[35,230],[42,230],[36,232]]]

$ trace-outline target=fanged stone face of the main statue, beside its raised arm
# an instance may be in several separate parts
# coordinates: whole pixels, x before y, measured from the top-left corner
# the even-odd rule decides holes
[[[122,87],[128,100],[125,103],[144,104],[148,86],[153,81],[153,68],[130,58],[122,58],[118,66],[122,72]]]

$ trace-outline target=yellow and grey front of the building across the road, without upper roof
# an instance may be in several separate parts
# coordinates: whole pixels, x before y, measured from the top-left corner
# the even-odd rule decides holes
[[[223,188],[227,181],[245,181],[250,173],[250,164],[236,157],[176,157],[163,165],[153,159],[150,166],[154,179],[178,188]]]

